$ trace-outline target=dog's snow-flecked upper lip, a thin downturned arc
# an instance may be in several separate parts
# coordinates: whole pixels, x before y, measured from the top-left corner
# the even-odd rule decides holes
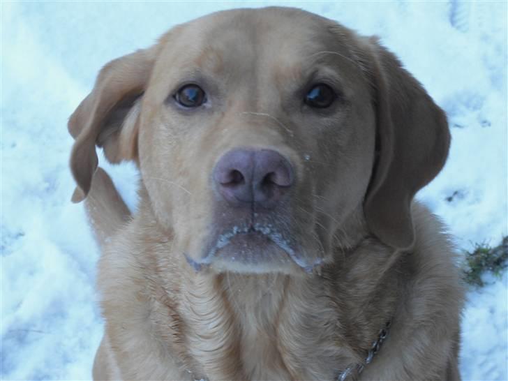
[[[187,253],[184,253],[188,264],[190,264],[195,271],[200,271],[203,267],[208,267],[216,257],[216,253],[221,250],[221,248],[230,244],[233,237],[237,237],[240,234],[260,234],[267,237],[271,242],[278,246],[278,248],[281,248],[295,264],[297,264],[301,269],[304,269],[307,273],[311,273],[315,267],[322,264],[321,258],[315,260],[312,264],[308,264],[305,260],[299,257],[297,253],[295,253],[287,239],[285,239],[283,234],[278,232],[273,225],[262,225],[260,223],[244,227],[235,225],[231,230],[227,230],[223,234],[219,235],[214,248],[212,248],[207,256],[201,260],[193,260],[193,258],[189,257]]]

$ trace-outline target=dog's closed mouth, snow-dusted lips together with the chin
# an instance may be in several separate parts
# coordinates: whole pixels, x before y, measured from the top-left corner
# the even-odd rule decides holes
[[[310,273],[321,264],[321,259],[306,261],[297,247],[294,239],[287,238],[274,225],[255,223],[235,225],[218,234],[199,260],[185,256],[196,271],[210,268],[248,273],[287,272],[296,266]]]

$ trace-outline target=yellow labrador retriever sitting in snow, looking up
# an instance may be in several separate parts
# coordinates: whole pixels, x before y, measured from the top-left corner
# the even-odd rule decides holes
[[[440,108],[375,38],[292,8],[181,24],[70,117],[103,248],[96,380],[459,380],[459,271],[414,194]],[[107,174],[134,160],[133,216]]]

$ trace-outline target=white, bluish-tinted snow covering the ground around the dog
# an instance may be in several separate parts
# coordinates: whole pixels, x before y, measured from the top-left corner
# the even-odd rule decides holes
[[[107,61],[215,10],[297,6],[377,34],[446,110],[446,167],[418,197],[459,248],[507,234],[507,2],[1,2],[1,372],[85,380],[103,330],[98,248],[72,204],[67,119]],[[102,165],[135,207],[133,165]],[[451,197],[451,201],[447,200]],[[468,292],[464,380],[508,380],[507,274]],[[423,376],[423,375],[422,375]]]

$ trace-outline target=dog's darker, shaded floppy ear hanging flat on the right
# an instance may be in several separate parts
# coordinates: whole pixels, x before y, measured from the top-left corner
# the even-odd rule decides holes
[[[411,202],[440,172],[450,134],[444,112],[400,61],[368,40],[377,119],[376,163],[364,202],[368,227],[385,244],[414,244]]]

